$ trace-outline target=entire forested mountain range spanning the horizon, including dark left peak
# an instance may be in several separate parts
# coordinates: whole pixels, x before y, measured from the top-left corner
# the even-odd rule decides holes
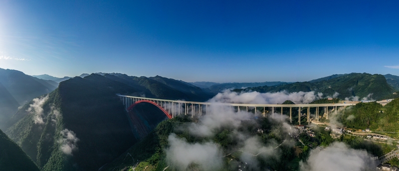
[[[206,101],[223,89],[238,88],[235,91],[315,91],[331,96],[338,92],[341,99],[372,93],[372,98],[381,99],[397,91],[398,81],[393,75],[351,73],[298,83],[217,84],[98,73],[66,78],[58,85],[0,69],[0,128],[42,171],[98,170],[118,157],[123,160],[126,154],[121,154],[165,119],[143,115],[150,111],[148,106],[136,108],[134,116],[127,113],[116,93]]]

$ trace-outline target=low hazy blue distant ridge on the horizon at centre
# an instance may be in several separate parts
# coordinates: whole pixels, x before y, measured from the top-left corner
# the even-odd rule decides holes
[[[286,84],[285,82],[263,82],[263,83],[221,83],[209,86],[210,91],[218,93],[224,89],[236,89],[245,87],[256,87],[256,86],[274,86]]]

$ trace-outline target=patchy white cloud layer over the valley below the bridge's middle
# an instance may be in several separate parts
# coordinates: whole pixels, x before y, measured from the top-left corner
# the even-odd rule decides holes
[[[276,116],[279,118],[272,119],[272,121],[283,122],[281,116]],[[236,112],[226,106],[217,104],[208,106],[208,113],[201,116],[198,122],[184,125],[178,130],[188,130],[195,137],[211,138],[221,129],[226,129],[234,135],[233,139],[237,142],[237,145],[230,147],[232,149],[223,149],[212,140],[191,144],[185,139],[178,138],[176,134],[171,134],[168,138],[169,148],[166,149],[167,161],[179,170],[187,170],[189,166],[195,164],[202,170],[210,171],[229,167],[224,166],[224,157],[237,152],[241,153],[239,158],[241,164],[238,163],[237,165],[246,166],[251,170],[259,170],[259,158],[279,158],[280,155],[277,153],[278,149],[276,149],[279,144],[275,140],[270,140],[264,144],[258,135],[238,130],[242,126],[242,121],[256,124],[253,120],[254,117],[253,113]],[[281,128],[282,131],[277,135],[288,134],[292,131],[287,123],[283,125],[284,128]]]

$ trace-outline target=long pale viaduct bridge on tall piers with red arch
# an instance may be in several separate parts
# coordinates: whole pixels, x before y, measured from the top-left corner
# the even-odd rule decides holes
[[[197,101],[184,101],[184,100],[167,100],[167,99],[158,99],[158,98],[147,98],[147,97],[137,97],[137,96],[128,96],[117,94],[120,99],[123,101],[126,110],[131,110],[135,105],[147,102],[154,104],[158,108],[160,108],[169,119],[174,118],[180,114],[191,114],[192,117],[195,115],[202,115],[208,113],[208,106],[210,105],[218,105],[218,106],[228,106],[233,108],[236,111],[254,111],[254,113],[260,112],[264,117],[267,117],[266,108],[269,110],[271,108],[271,113],[274,115],[275,111],[280,112],[281,116],[283,115],[283,108],[290,109],[290,122],[292,123],[292,108],[298,108],[298,122],[301,124],[301,108],[307,108],[307,122],[310,123],[310,108],[315,108],[315,115],[317,121],[319,121],[319,108],[324,108],[326,114],[326,119],[328,119],[328,109],[332,108],[331,111],[335,111],[337,114],[338,107],[346,107],[355,105],[354,103],[324,103],[324,104],[242,104],[242,103],[210,103],[210,102],[197,102]],[[184,111],[181,111],[181,107],[184,107]],[[190,110],[191,109],[191,110]],[[222,107],[223,109],[223,107]],[[262,110],[263,109],[263,110]]]

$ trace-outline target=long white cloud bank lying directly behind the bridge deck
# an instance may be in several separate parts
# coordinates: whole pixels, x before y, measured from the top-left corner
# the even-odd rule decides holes
[[[279,92],[260,93],[257,91],[234,92],[226,89],[223,92],[217,93],[208,101],[218,103],[281,104],[285,100],[291,100],[295,104],[307,104],[316,99],[320,99],[322,96],[323,93],[316,94],[314,91],[289,93],[283,90]]]

